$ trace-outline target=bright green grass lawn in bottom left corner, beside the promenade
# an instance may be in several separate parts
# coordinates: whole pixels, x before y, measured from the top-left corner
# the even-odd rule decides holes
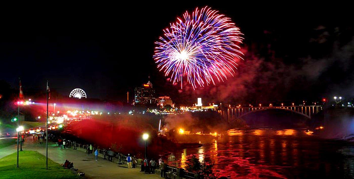
[[[65,169],[48,158],[45,169],[45,156],[36,151],[22,151],[19,168],[16,168],[16,152],[0,158],[0,178],[81,178],[74,171]]]

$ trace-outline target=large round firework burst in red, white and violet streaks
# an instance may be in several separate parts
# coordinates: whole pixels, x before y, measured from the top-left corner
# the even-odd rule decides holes
[[[230,18],[211,8],[196,8],[192,16],[186,11],[164,33],[155,42],[154,59],[173,83],[181,82],[181,88],[185,76],[193,89],[227,80],[235,73],[235,59],[242,59],[238,44],[243,34]]]

